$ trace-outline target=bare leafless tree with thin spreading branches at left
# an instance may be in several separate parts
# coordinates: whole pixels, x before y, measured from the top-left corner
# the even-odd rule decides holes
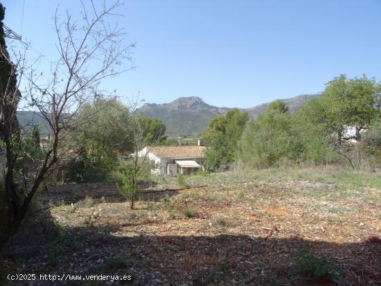
[[[99,84],[105,78],[113,77],[132,69],[123,64],[131,61],[130,48],[134,44],[123,44],[123,29],[117,24],[108,23],[108,19],[117,16],[115,11],[122,4],[118,1],[107,6],[106,1],[97,7],[89,1],[89,7],[82,1],[81,19],[75,20],[69,12],[62,18],[59,7],[55,12],[54,24],[57,35],[57,62],[51,63],[51,70],[46,73],[37,71],[33,66],[26,75],[27,88],[24,100],[30,108],[39,111],[48,123],[52,141],[44,149],[33,176],[24,176],[24,188],[17,188],[15,162],[19,151],[15,146],[20,144],[22,136],[12,138],[10,116],[15,118],[18,93],[10,91],[1,93],[1,123],[3,137],[6,138],[8,168],[6,170],[6,194],[8,196],[8,225],[18,226],[24,219],[28,206],[37,193],[46,175],[60,161],[60,143],[85,118],[77,116],[78,110],[87,102],[96,98]],[[15,74],[21,76],[15,65]],[[9,107],[9,108],[8,108]],[[12,111],[9,111],[12,110]],[[11,112],[11,114],[10,114]],[[8,138],[8,139],[7,139]],[[21,199],[22,197],[22,199]]]

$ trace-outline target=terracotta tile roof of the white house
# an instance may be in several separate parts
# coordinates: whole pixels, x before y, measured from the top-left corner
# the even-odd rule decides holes
[[[204,146],[154,146],[150,152],[159,158],[204,158]]]

